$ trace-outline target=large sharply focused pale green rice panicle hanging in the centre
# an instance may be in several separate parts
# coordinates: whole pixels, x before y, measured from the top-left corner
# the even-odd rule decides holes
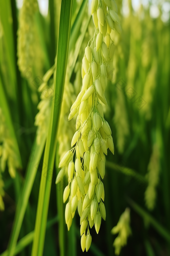
[[[101,179],[105,174],[107,148],[114,154],[109,124],[103,118],[102,104],[106,104],[104,91],[107,79],[112,76],[114,43],[111,30],[121,31],[117,7],[113,0],[91,3],[91,14],[95,25],[93,38],[85,48],[82,59],[82,88],[71,106],[68,120],[77,114],[76,132],[67,151],[59,163],[62,168],[56,184],[68,173],[68,185],[63,192],[65,222],[69,230],[77,208],[80,216],[82,251],[89,249],[91,235],[89,227],[95,226],[98,233],[101,218],[105,220],[104,187]]]

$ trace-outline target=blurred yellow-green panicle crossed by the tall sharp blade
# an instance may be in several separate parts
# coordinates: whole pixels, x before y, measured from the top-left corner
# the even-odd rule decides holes
[[[43,83],[38,88],[38,91],[41,92],[41,96],[40,96],[41,101],[37,105],[39,112],[36,114],[35,122],[34,122],[34,124],[37,126],[36,143],[38,145],[40,144],[41,138],[43,136],[46,136],[48,131],[50,109],[51,109],[52,101],[54,100],[53,88],[54,88],[54,81],[55,81],[55,68],[56,68],[56,63],[45,73],[45,75],[43,76]],[[70,106],[75,99],[73,86],[68,79],[69,77],[68,70],[65,75],[65,84],[64,84],[61,113],[60,113],[59,127],[58,127],[58,136],[57,136],[58,143],[59,143],[58,154],[60,156],[60,159],[69,149],[71,138],[74,133],[73,125],[70,127],[66,117],[66,114],[68,113]],[[60,103],[60,100],[61,100],[60,98],[57,98],[55,107],[57,107],[57,104]]]

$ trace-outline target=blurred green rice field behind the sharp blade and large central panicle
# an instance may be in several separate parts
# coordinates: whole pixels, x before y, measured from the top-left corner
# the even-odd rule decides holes
[[[53,100],[61,1],[39,0],[38,6],[32,3],[21,16],[21,1],[0,1],[0,256],[9,255],[6,249],[12,246],[15,253],[10,255],[31,254]],[[66,106],[60,118],[63,137],[58,140],[55,166],[61,152],[69,149],[74,131],[74,120],[67,122],[67,116],[81,87],[84,49],[94,33],[89,4],[73,0],[65,78],[65,88],[69,85],[71,89],[64,89]],[[170,3],[124,0],[117,1],[117,7],[122,33],[112,34],[113,74],[105,92],[108,105],[104,107],[115,153],[108,153],[105,163],[106,221],[102,221],[99,234],[91,230],[92,244],[87,253],[114,255],[116,235],[110,231],[128,207],[132,235],[120,255],[168,256]],[[43,83],[48,88],[46,98],[39,89]],[[40,101],[45,108],[39,121],[36,114]],[[53,176],[46,177],[52,183],[43,255],[82,255],[79,216],[75,215],[68,232],[62,203],[66,177],[55,185],[55,166]],[[11,245],[16,242],[16,247]]]

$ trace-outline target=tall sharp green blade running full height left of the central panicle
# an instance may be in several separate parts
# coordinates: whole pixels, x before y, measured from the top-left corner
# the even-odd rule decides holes
[[[66,63],[68,55],[68,42],[70,34],[72,1],[62,0],[59,37],[57,45],[56,77],[54,86],[54,101],[52,102],[50,123],[47,134],[45,153],[43,158],[43,173],[41,173],[38,205],[35,220],[35,236],[32,245],[32,256],[40,256],[43,253],[43,243],[45,237],[46,219],[53,173],[54,157],[57,143],[57,129],[63,86],[65,80]],[[60,99],[58,102],[58,98]],[[44,176],[45,174],[45,176]]]

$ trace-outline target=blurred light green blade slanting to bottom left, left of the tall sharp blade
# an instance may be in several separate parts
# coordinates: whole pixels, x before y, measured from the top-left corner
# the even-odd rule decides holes
[[[12,256],[14,253],[15,245],[16,245],[20,228],[22,225],[24,213],[26,210],[32,185],[35,179],[38,164],[43,152],[44,144],[45,144],[45,138],[43,138],[39,146],[36,144],[36,140],[35,140],[34,145],[32,147],[32,154],[30,155],[25,181],[23,184],[22,191],[20,193],[20,198],[17,203],[12,231],[11,231],[11,235],[8,243],[8,256]]]

